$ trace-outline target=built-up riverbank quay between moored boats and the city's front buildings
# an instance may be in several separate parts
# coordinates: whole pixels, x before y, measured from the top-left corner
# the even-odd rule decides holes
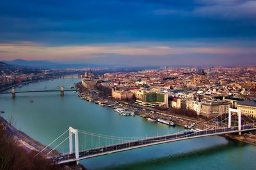
[[[156,120],[157,118],[163,118],[164,120],[170,120],[170,121],[174,122],[176,125],[180,125],[180,126],[194,124],[196,129],[218,128],[215,124],[207,122],[207,120],[204,120],[202,118],[198,119],[195,117],[178,115],[175,113],[157,110],[156,108],[149,108],[149,107],[141,106],[136,103],[131,103],[131,102],[129,103],[126,101],[116,100],[110,96],[104,96],[104,95],[100,94],[100,92],[94,94],[95,96],[90,96],[90,90],[84,88],[83,85],[81,85],[81,83],[77,83],[76,88],[79,89],[79,92],[81,94],[79,96],[90,97],[96,101],[98,101],[98,100],[109,101],[111,104],[114,104],[114,103],[122,104],[121,107],[124,107],[124,108],[129,108],[129,107],[130,107],[130,109],[136,108],[137,111],[134,111],[134,113],[136,113],[136,115],[140,115],[141,117],[144,117],[144,118],[150,118],[150,120]],[[256,134],[256,132],[253,132],[253,133]],[[256,145],[256,135],[253,135],[253,134],[243,133],[241,136],[239,136],[238,134],[227,134],[227,135],[223,135],[223,136],[225,138],[235,139],[237,141],[243,141],[245,143],[250,143],[252,145]]]

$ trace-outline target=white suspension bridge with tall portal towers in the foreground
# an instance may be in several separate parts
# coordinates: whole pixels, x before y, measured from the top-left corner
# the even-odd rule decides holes
[[[238,117],[237,122],[232,122],[232,116],[236,115]],[[163,136],[154,136],[149,138],[127,138],[120,136],[109,136],[102,134],[95,134],[92,132],[86,132],[79,129],[74,129],[69,127],[67,131],[63,132],[58,138],[54,139],[52,143],[46,146],[42,151],[37,153],[44,154],[47,157],[51,157],[56,161],[57,164],[65,164],[68,162],[77,162],[83,159],[89,159],[92,157],[98,157],[101,155],[106,155],[110,153],[123,152],[125,150],[132,150],[136,148],[159,145],[163,143],[170,143],[174,141],[181,141],[186,139],[193,138],[202,138],[205,136],[214,136],[221,134],[232,134],[246,131],[256,130],[255,122],[252,119],[245,120],[241,117],[241,111],[235,109],[229,109],[228,117],[224,117],[223,120],[219,121],[223,115],[219,115],[216,118],[212,118],[208,122],[205,122],[206,129],[200,131],[181,131],[174,134],[166,134]],[[233,117],[234,118],[234,117]],[[243,120],[243,121],[242,121]],[[237,125],[238,124],[238,125]],[[233,125],[233,126],[232,126]],[[202,126],[202,124],[200,125]],[[193,127],[196,129],[196,127]],[[63,139],[58,145],[56,145],[50,152],[46,152],[46,148],[51,146],[53,143],[56,143],[58,140],[63,138],[67,134],[67,138]],[[73,152],[73,135],[75,136],[75,152]],[[82,140],[79,138],[83,138]],[[52,151],[58,148],[61,144],[69,139],[69,152],[62,153],[61,155],[54,156],[51,155]],[[80,141],[80,143],[79,143]],[[81,142],[83,141],[83,142]]]

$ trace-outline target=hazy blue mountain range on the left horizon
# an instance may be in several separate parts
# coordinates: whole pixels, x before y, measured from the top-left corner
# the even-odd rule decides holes
[[[84,67],[98,67],[95,64],[58,64],[56,62],[51,62],[48,60],[10,60],[3,61],[3,63],[16,65],[16,66],[28,66],[28,67],[40,67],[49,69],[67,69],[67,68],[84,68]]]

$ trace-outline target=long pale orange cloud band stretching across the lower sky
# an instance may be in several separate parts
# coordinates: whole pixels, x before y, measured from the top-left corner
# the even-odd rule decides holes
[[[22,41],[13,44],[0,44],[1,60],[33,59],[33,60],[68,60],[91,59],[102,53],[120,55],[173,55],[189,53],[236,55],[255,53],[256,48],[237,47],[177,47],[164,46],[157,43],[113,43],[107,45],[81,45],[81,46],[44,46]]]

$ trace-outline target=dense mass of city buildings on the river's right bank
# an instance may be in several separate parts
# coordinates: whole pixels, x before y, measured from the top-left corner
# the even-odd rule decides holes
[[[255,99],[255,67],[179,67],[83,75],[83,85],[105,96],[151,107],[172,107],[214,117]],[[115,89],[115,90],[113,90]],[[241,106],[240,106],[241,107]],[[251,114],[253,111],[245,111]]]

